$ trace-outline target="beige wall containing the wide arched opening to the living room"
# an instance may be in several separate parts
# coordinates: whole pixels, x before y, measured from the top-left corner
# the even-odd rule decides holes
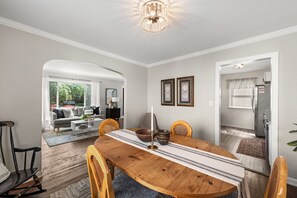
[[[139,125],[147,110],[147,68],[0,25],[0,120],[16,123],[17,146],[40,146],[42,67],[53,59],[94,63],[122,73],[127,79],[127,127]]]

